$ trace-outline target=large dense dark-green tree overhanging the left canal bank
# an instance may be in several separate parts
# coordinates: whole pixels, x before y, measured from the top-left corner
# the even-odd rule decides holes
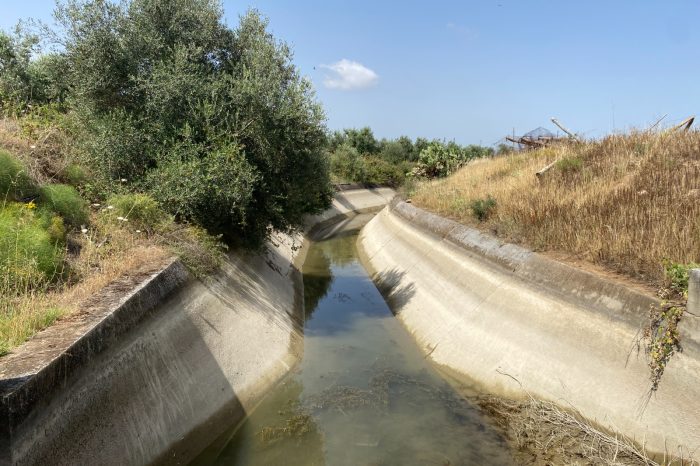
[[[259,245],[324,209],[324,115],[255,11],[214,0],[68,1],[58,10],[80,149],[180,219]]]

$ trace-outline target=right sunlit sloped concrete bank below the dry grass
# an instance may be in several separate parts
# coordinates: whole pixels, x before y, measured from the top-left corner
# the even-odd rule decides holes
[[[700,454],[697,317],[681,322],[684,352],[649,399],[634,342],[652,296],[399,200],[358,249],[420,347],[462,381],[576,409],[647,451]]]

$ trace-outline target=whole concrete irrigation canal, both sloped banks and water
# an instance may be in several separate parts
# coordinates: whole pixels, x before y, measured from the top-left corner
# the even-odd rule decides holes
[[[393,197],[340,192],[208,280],[156,264],[41,332],[0,366],[0,464],[511,464],[446,373],[696,454],[697,317],[644,404],[653,297]]]

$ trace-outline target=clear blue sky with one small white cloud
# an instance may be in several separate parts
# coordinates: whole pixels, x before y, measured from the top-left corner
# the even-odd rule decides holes
[[[2,3],[8,29],[54,2]],[[700,109],[697,1],[225,0],[229,25],[248,7],[292,46],[331,129],[488,145],[552,116],[598,137]]]

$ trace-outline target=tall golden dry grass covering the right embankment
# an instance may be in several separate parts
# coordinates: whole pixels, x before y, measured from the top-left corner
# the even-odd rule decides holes
[[[480,222],[471,205],[488,196],[496,207]],[[700,259],[700,133],[610,136],[480,160],[422,183],[413,202],[658,285],[664,259]]]

